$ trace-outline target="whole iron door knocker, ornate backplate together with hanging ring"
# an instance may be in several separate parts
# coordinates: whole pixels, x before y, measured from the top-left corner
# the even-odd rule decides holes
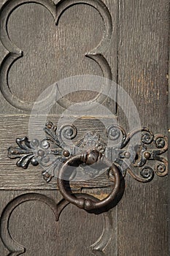
[[[29,164],[41,165],[42,175],[47,182],[56,176],[58,189],[61,195],[70,203],[83,208],[86,211],[104,208],[112,203],[120,192],[121,177],[130,174],[136,181],[149,182],[157,176],[166,176],[168,162],[163,154],[168,150],[168,139],[164,135],[153,135],[149,129],[143,127],[136,129],[128,135],[125,130],[113,125],[107,127],[107,138],[114,141],[120,138],[115,146],[109,146],[95,131],[87,132],[84,137],[75,143],[75,146],[67,146],[63,138],[70,140],[76,138],[77,128],[66,124],[60,129],[48,122],[45,126],[46,138],[29,141],[28,138],[18,138],[18,147],[8,149],[8,157],[18,159],[17,166],[26,169]],[[140,135],[140,141],[135,143],[135,136]],[[133,143],[131,143],[133,140]],[[129,145],[131,144],[131,145]],[[150,162],[155,161],[151,167]],[[88,172],[84,167],[92,165]],[[77,176],[77,167],[82,166],[86,176],[95,178],[100,175],[100,168],[107,171],[108,178],[112,180],[113,188],[110,194],[103,200],[97,201],[87,197],[76,197],[67,189],[66,184]],[[139,174],[136,174],[138,169]],[[57,173],[57,175],[55,174]],[[81,194],[80,194],[81,195]]]

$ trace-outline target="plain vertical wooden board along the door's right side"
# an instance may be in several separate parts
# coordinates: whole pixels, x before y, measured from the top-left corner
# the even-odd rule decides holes
[[[142,126],[163,134],[168,52],[169,1],[120,1],[118,83],[134,100]],[[128,129],[120,107],[118,118]],[[126,176],[125,184],[118,206],[118,255],[168,255],[167,178],[139,184]]]

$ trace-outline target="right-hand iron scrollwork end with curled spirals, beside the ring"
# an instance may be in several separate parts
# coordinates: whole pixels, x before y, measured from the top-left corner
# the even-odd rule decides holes
[[[126,135],[125,130],[122,127],[113,126],[107,129],[108,138],[113,140],[110,134],[115,130],[120,131],[122,139],[118,146],[112,148],[112,151],[118,151],[118,156],[117,159],[115,159],[115,162],[120,167],[120,170],[122,170],[123,176],[128,172],[137,181],[148,182],[152,180],[154,174],[158,176],[167,175],[168,162],[161,156],[168,150],[168,138],[166,136],[160,134],[153,135],[147,127],[136,129],[134,132]],[[132,143],[133,145],[128,146],[132,138],[138,133],[141,133],[140,141],[135,143],[134,140]],[[150,146],[154,146],[155,149],[150,148]],[[147,165],[151,160],[157,162],[155,167],[144,167],[144,165]],[[135,169],[137,168],[139,168],[140,176],[136,174]]]

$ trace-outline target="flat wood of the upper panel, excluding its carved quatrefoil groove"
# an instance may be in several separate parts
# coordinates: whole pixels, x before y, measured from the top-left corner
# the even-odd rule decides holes
[[[104,56],[115,80],[117,1],[107,0],[104,3],[112,13],[114,24],[112,42],[109,43]],[[23,102],[34,102],[47,86],[63,78],[73,75],[102,76],[98,63],[85,57],[85,53],[96,48],[104,37],[104,23],[97,8],[95,10],[83,3],[73,4],[63,12],[58,26],[55,26],[55,20],[49,10],[30,1],[29,4],[20,5],[12,11],[9,15],[7,30],[14,47],[17,46],[23,50],[22,58],[15,61],[8,72],[9,89]],[[4,54],[4,47],[2,47],[2,58]],[[112,59],[111,56],[114,58]],[[94,92],[85,91],[73,93],[67,98],[76,102],[93,99],[95,95]],[[0,99],[3,106],[1,113],[13,113],[14,109],[4,101],[4,98]],[[109,101],[106,104],[113,107],[114,103]],[[16,111],[23,113],[22,110]]]

